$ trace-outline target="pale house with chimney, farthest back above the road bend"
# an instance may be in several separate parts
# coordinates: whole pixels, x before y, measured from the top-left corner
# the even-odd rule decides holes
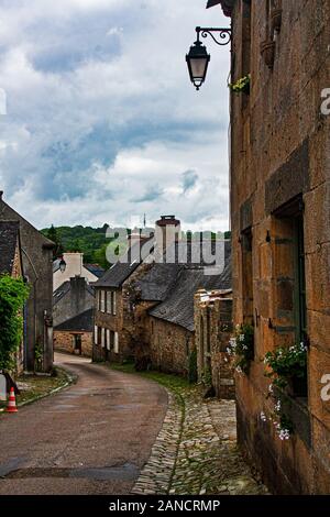
[[[81,276],[90,284],[97,282],[105,273],[97,264],[84,264],[84,253],[64,253],[63,260],[66,264],[65,271],[61,271],[61,258],[53,263],[54,290],[75,276]]]

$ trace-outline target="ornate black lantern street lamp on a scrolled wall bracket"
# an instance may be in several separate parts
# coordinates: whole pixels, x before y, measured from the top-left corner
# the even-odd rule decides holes
[[[217,43],[217,45],[223,46],[231,42],[231,29],[215,29],[215,28],[196,28],[197,41],[190,46],[189,54],[186,55],[186,62],[188,65],[189,77],[197,90],[201,87],[206,79],[208,66],[211,59],[208,54],[206,46],[200,41],[200,35],[207,37],[208,35]],[[219,33],[220,40],[217,40],[213,33]]]

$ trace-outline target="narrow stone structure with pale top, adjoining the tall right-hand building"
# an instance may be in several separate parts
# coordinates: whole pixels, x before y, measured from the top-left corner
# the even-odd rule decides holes
[[[198,381],[209,376],[218,398],[235,398],[234,367],[228,355],[232,333],[232,292],[200,289],[195,295]]]

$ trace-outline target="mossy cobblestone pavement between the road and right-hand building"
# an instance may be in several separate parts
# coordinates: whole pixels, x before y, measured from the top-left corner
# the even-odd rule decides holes
[[[198,389],[168,394],[164,426],[134,494],[267,494],[237,448],[235,405]]]

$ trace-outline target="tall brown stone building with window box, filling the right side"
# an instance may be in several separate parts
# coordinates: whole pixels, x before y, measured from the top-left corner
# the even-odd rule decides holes
[[[232,19],[231,82],[251,74],[250,95],[231,94],[233,314],[235,323],[254,324],[255,358],[250,374],[237,376],[239,441],[275,493],[327,494],[330,3],[209,3]],[[299,342],[308,346],[308,395],[290,397],[295,431],[280,441],[263,359]]]

